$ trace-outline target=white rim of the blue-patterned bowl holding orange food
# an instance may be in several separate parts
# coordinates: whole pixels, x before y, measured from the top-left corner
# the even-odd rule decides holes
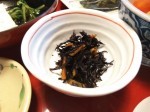
[[[140,18],[150,22],[150,16],[146,13],[142,12],[140,9],[136,8],[129,0],[121,0],[122,3],[130,10],[133,11],[134,14],[138,15]]]

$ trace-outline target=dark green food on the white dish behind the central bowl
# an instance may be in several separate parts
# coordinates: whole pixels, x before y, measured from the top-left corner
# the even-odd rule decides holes
[[[85,8],[109,11],[117,9],[120,0],[81,0],[80,3]]]

